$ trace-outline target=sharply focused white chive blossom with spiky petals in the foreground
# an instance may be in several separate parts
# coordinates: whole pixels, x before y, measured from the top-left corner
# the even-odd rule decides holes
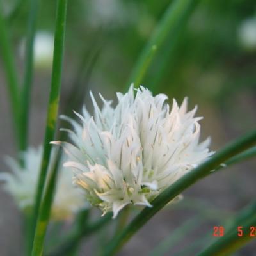
[[[73,126],[72,144],[63,146],[70,157],[64,166],[74,169],[74,183],[86,191],[88,201],[113,218],[127,204],[150,207],[161,191],[211,156],[209,140],[198,143],[200,125],[196,108],[187,112],[187,99],[178,106],[166,103],[164,94],[142,86],[134,97],[131,86],[111,107],[101,95],[102,110],[92,93],[94,115],[86,109],[80,122],[62,116]]]

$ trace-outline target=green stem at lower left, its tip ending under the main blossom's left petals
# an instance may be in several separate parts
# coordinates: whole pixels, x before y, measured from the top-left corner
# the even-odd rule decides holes
[[[32,248],[32,256],[38,256],[43,254],[44,249],[44,239],[45,239],[45,232],[47,229],[47,225],[49,222],[49,217],[51,214],[51,205],[52,200],[54,197],[54,189],[56,184],[56,178],[58,175],[58,166],[60,164],[61,151],[58,150],[55,157],[54,168],[52,169],[51,176],[49,177],[49,182],[47,183],[45,189],[45,195],[42,199],[42,204],[40,206],[38,220],[36,222],[36,229],[35,229],[35,237],[33,241],[33,248]]]

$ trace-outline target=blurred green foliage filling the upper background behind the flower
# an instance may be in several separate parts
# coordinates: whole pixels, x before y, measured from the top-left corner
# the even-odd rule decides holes
[[[40,4],[38,30],[53,31],[55,4],[51,0]],[[168,4],[167,0],[69,1],[65,55],[68,68],[75,74],[81,56],[100,48],[93,67],[95,83],[113,91],[123,90]],[[17,6],[10,24],[18,44],[26,31],[28,1],[12,0],[5,5],[6,17]],[[192,104],[212,104],[223,115],[234,116],[233,122],[237,123],[237,113],[247,112],[252,108],[250,101],[255,101],[256,45],[254,51],[248,51],[239,39],[241,24],[255,17],[255,12],[253,0],[200,1],[185,31],[177,31],[175,38],[171,36],[157,50],[143,85],[154,86],[179,101],[188,95]],[[175,44],[173,52],[170,44]],[[243,106],[243,102],[249,103]],[[252,116],[243,117],[240,128],[244,131],[253,123]]]

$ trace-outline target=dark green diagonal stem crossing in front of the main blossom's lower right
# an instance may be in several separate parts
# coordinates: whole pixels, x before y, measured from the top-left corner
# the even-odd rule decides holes
[[[194,170],[191,170],[191,172],[187,173],[184,175],[184,177],[180,178],[177,180],[177,182],[166,188],[163,193],[161,193],[151,202],[153,205],[152,208],[147,207],[143,209],[143,211],[141,211],[141,213],[138,214],[138,216],[136,216],[134,220],[132,220],[131,223],[123,230],[123,232],[113,239],[103,255],[113,255],[116,253],[133,236],[133,234],[143,227],[143,225],[145,225],[145,223],[147,223],[152,216],[161,210],[164,205],[168,204],[168,202],[170,202],[186,188],[193,185],[197,180],[209,175],[211,170],[218,167],[219,164],[224,163],[231,157],[234,157],[244,150],[252,147],[255,145],[255,143],[256,131],[253,131],[243,138],[228,144],[225,148],[223,148],[223,150],[220,150],[210,159],[200,164],[200,166]]]

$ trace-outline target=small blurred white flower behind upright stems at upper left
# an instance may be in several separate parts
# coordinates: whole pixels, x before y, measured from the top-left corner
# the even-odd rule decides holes
[[[35,68],[45,69],[52,67],[54,50],[54,36],[48,31],[38,31],[33,45]],[[25,40],[20,45],[20,55],[25,56]]]

